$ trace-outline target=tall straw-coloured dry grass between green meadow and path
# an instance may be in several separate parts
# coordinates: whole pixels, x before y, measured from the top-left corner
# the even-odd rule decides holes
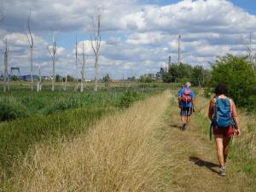
[[[167,104],[165,92],[102,119],[73,141],[36,146],[16,168],[7,190],[160,191],[165,143],[155,135]]]

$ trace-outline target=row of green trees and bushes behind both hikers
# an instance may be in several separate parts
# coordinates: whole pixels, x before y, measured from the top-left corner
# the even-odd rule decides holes
[[[163,74],[163,82],[181,83],[190,81],[194,86],[212,90],[219,83],[227,84],[229,96],[239,107],[256,109],[256,71],[249,56],[218,56],[210,63],[211,69],[189,64],[172,64]]]

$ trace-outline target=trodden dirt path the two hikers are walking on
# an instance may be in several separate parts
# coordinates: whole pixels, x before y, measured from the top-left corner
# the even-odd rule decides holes
[[[180,130],[181,120],[177,103],[171,103],[164,122],[160,131],[161,140],[168,143],[165,153],[175,155],[175,160],[177,160],[171,184],[177,187],[177,191],[253,191],[250,186],[246,185],[247,177],[233,171],[230,165],[227,166],[226,177],[218,175],[218,160],[214,143],[210,143],[209,139],[201,134],[195,118],[188,131]],[[229,164],[232,164],[231,160]],[[239,180],[236,178],[238,174]]]

